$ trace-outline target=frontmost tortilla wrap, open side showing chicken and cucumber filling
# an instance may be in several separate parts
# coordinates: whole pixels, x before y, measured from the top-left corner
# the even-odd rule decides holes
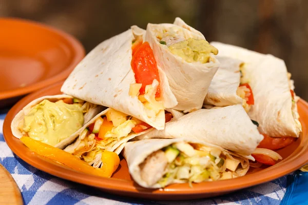
[[[235,178],[249,169],[248,159],[187,138],[127,142],[123,155],[130,175],[145,188]]]

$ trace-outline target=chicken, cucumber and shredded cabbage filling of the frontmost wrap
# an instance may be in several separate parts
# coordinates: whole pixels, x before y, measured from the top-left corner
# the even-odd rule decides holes
[[[217,148],[177,142],[150,154],[140,165],[141,178],[148,186],[202,182],[240,176],[248,166],[243,159]]]

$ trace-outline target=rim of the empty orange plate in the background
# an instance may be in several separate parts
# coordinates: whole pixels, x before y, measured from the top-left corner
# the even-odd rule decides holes
[[[25,94],[40,90],[46,86],[53,85],[54,83],[57,83],[58,81],[65,79],[71,73],[71,71],[75,68],[75,66],[84,58],[86,54],[85,48],[83,47],[83,45],[77,38],[55,27],[45,25],[39,22],[35,22],[34,20],[23,19],[23,18],[18,18],[18,17],[0,17],[0,23],[1,22],[29,24],[32,26],[39,27],[40,29],[47,30],[48,32],[55,33],[61,36],[63,39],[65,39],[68,45],[70,45],[70,48],[73,51],[73,56],[72,56],[72,60],[70,61],[69,65],[65,67],[60,73],[57,73],[56,75],[53,75],[47,79],[38,81],[34,84],[25,86],[23,88],[15,88],[15,89],[0,92],[0,100],[23,96]]]

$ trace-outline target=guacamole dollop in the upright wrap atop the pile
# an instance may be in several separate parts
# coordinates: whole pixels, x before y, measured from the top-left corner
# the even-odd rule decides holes
[[[188,63],[200,62],[208,63],[210,53],[218,54],[217,48],[211,46],[206,40],[189,38],[181,42],[170,45],[171,53],[180,56]]]

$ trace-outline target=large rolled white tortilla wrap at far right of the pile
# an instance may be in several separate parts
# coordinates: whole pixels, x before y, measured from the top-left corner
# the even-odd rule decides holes
[[[284,61],[232,45],[211,44],[219,49],[220,55],[244,61],[255,99],[248,115],[259,123],[260,133],[272,137],[298,137],[301,132],[296,105],[298,97],[293,98],[290,92],[294,90],[293,80],[290,80],[291,74],[288,74]]]

